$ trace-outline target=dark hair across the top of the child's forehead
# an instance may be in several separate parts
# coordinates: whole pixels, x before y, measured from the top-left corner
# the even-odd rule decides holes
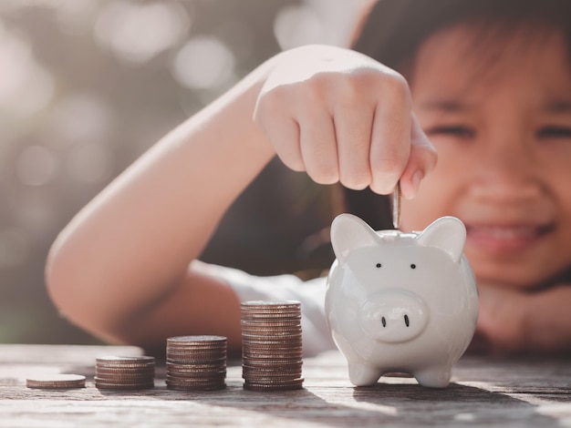
[[[353,49],[399,69],[431,34],[472,20],[555,25],[571,46],[569,0],[379,0],[370,8]]]

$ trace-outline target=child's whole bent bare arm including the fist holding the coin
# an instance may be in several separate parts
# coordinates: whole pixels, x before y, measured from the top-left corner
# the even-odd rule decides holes
[[[400,178],[410,196],[435,163],[418,129],[406,82],[376,61],[331,46],[275,56],[78,213],[50,250],[49,293],[109,341],[223,334],[239,348],[234,291],[191,263],[234,199],[276,150],[317,182],[389,192]]]

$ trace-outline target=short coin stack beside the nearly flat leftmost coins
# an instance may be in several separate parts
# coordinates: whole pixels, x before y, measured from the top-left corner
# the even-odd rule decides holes
[[[154,386],[155,359],[99,357],[95,365],[95,386],[104,390],[143,390]]]

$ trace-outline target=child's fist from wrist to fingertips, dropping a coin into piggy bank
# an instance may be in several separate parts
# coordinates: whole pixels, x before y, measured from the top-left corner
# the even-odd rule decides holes
[[[436,152],[397,72],[355,51],[304,46],[278,56],[254,111],[288,168],[320,184],[412,198]]]

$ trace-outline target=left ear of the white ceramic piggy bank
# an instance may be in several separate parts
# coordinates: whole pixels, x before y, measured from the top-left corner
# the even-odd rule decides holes
[[[339,214],[331,223],[331,245],[339,261],[347,259],[353,249],[379,245],[379,235],[352,214]]]

